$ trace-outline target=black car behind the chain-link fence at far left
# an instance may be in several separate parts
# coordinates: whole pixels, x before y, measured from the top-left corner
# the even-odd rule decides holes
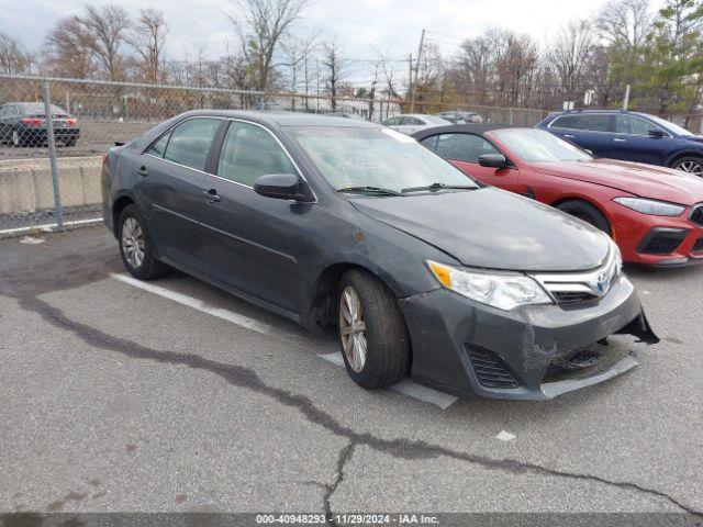
[[[80,137],[78,120],[54,104],[52,119],[56,142],[76,146]],[[46,141],[46,111],[43,102],[8,102],[0,106],[0,143],[44,146]]]

